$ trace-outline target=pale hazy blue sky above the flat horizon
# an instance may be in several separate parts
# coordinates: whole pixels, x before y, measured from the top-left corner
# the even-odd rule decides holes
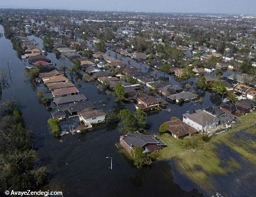
[[[256,14],[256,0],[0,0],[0,8]]]

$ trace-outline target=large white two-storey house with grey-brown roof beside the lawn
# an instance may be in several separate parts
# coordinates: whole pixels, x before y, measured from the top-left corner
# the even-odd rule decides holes
[[[219,118],[199,109],[194,114],[183,114],[183,122],[198,131],[209,132],[219,125]]]

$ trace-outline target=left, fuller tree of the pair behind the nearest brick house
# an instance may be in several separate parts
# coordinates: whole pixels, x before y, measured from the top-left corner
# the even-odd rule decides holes
[[[120,110],[117,117],[120,119],[120,132],[126,134],[137,130],[137,121],[128,109]]]

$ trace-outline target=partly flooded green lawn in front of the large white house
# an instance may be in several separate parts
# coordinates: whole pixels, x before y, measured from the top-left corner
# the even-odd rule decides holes
[[[184,139],[175,139],[165,133],[159,137],[168,146],[160,150],[156,157],[162,160],[175,159],[179,171],[202,187],[202,189],[209,190],[213,187],[212,182],[209,181],[210,174],[225,175],[229,172],[236,172],[242,167],[232,157],[227,158],[226,161],[221,160],[216,151],[218,145],[229,146],[248,163],[256,164],[256,153],[254,151],[256,142],[247,137],[234,137],[237,132],[241,131],[251,134],[256,133],[256,112],[240,116],[239,120],[240,122],[233,125],[232,129],[212,137],[210,142],[200,143],[195,149],[190,150],[184,148]]]

